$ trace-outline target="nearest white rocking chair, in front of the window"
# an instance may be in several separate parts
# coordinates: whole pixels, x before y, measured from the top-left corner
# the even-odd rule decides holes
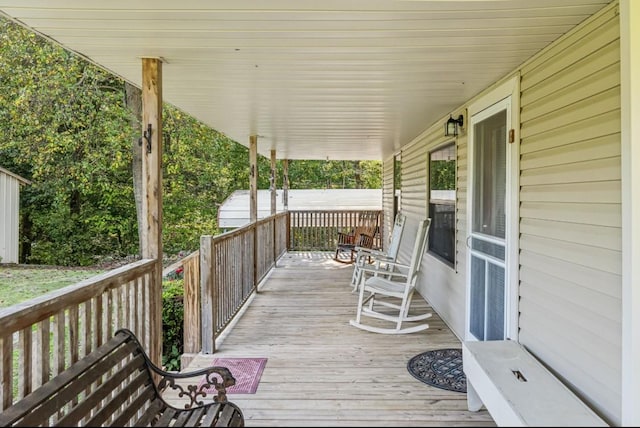
[[[361,276],[356,319],[349,321],[352,326],[383,334],[414,333],[429,328],[427,323],[410,327],[403,327],[403,323],[422,321],[432,315],[431,312],[409,315],[409,307],[411,306],[420,265],[427,246],[430,225],[430,218],[420,221],[411,262],[408,266],[396,262],[388,262],[385,267],[361,267],[363,273],[370,273],[373,276],[368,278],[366,275]],[[399,303],[397,303],[398,300],[400,301]],[[387,310],[380,312],[377,306],[382,306]],[[392,311],[389,311],[389,308]],[[395,323],[395,327],[384,328],[363,324],[362,316],[391,321]]]

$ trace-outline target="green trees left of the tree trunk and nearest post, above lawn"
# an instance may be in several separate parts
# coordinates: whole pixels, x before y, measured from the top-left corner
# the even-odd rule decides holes
[[[131,254],[137,224],[122,82],[0,21],[0,158],[29,178],[22,242],[32,263]]]

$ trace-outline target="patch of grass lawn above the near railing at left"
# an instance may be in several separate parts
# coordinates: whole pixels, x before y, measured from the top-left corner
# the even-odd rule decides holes
[[[105,269],[0,265],[0,308],[75,284],[102,272]]]

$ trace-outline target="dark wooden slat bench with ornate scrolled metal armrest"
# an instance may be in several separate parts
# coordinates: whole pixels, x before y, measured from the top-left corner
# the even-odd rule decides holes
[[[187,385],[193,377],[206,381]],[[0,413],[0,426],[241,427],[242,411],[226,397],[226,388],[235,382],[225,367],[189,373],[161,370],[132,332],[118,330],[107,343]],[[216,393],[208,394],[208,389]],[[183,408],[168,404],[165,392],[183,400]]]

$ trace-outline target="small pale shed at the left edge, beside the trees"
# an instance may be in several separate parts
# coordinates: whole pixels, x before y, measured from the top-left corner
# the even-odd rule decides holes
[[[18,263],[20,186],[31,184],[0,167],[0,263]]]

